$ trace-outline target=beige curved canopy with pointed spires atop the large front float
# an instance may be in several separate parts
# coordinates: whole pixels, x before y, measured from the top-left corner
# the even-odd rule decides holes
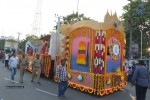
[[[104,22],[97,22],[94,20],[82,20],[73,24],[63,24],[60,30],[63,35],[68,35],[71,31],[80,27],[89,27],[94,30],[107,30],[112,28],[117,29],[125,36],[123,23],[119,21],[117,14],[114,13],[112,15],[109,14],[108,11],[104,17]]]

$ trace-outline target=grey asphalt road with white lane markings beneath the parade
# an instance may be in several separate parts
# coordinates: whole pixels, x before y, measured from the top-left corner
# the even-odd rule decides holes
[[[15,76],[15,82],[12,83],[10,71],[0,62],[0,100],[59,100],[57,97],[57,83],[53,80],[42,77],[41,84],[37,84],[36,81],[32,83],[30,82],[31,73],[26,72],[24,83],[18,81],[19,70]],[[10,88],[8,86],[15,87]],[[21,86],[24,86],[24,88]],[[68,88],[65,98],[62,100],[135,100],[134,88],[127,84],[122,90],[103,97]],[[150,100],[150,89],[148,89],[146,100]]]

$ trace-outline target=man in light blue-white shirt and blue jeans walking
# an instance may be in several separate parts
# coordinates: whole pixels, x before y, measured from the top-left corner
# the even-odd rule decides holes
[[[18,57],[16,56],[15,52],[13,52],[12,57],[9,60],[12,81],[14,80],[14,76],[16,74],[18,64],[19,64]]]

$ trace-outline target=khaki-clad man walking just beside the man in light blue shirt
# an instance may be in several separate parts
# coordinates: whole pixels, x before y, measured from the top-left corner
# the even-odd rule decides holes
[[[20,65],[20,83],[23,83],[23,76],[25,68],[28,66],[28,60],[25,58],[25,54],[22,54],[22,58],[19,59]]]

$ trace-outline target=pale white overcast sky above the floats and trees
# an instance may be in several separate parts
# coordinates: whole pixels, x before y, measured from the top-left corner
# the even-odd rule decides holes
[[[41,33],[49,34],[53,31],[59,16],[66,16],[77,12],[78,0],[42,0]],[[79,0],[78,12],[83,13],[99,22],[103,22],[107,10],[116,12],[118,16],[123,13],[123,6],[128,0]],[[32,33],[35,19],[37,0],[0,0],[0,36],[14,36],[20,39]]]

